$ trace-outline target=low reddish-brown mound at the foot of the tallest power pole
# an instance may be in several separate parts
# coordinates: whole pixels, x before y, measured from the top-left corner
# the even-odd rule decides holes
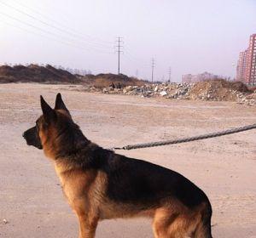
[[[143,80],[139,80],[135,77],[128,77],[123,74],[98,74],[87,75],[84,77],[84,82],[90,84],[95,88],[107,88],[112,83],[117,86],[120,84],[121,88],[126,86],[143,86],[145,83]]]

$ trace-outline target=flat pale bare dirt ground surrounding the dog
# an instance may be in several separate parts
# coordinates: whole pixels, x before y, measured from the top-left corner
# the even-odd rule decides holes
[[[51,161],[21,134],[61,92],[87,138],[105,148],[175,139],[256,122],[256,107],[234,102],[89,94],[63,85],[0,85],[0,237],[77,237],[77,218]],[[213,237],[256,237],[256,131],[188,144],[123,151],[182,173],[212,202]],[[6,219],[7,223],[4,222]],[[153,237],[148,219],[99,224],[96,237]]]

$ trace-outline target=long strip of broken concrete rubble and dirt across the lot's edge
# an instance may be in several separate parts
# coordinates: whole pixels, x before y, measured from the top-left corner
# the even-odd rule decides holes
[[[232,84],[233,83],[233,84]],[[236,101],[243,105],[256,105],[256,92],[237,86],[236,82],[207,81],[195,83],[148,83],[125,88],[95,88],[84,86],[83,91],[103,94],[125,94],[166,99],[194,99],[207,101]]]

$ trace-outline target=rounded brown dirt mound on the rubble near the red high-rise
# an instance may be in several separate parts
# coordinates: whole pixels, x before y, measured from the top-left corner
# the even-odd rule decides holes
[[[195,82],[189,92],[191,99],[230,101],[237,99],[237,93],[249,93],[242,82],[228,82],[223,79]]]

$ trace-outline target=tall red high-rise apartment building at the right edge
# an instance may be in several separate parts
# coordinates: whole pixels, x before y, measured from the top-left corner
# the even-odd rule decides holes
[[[239,54],[236,67],[236,81],[256,84],[256,34],[250,36],[247,50]]]

